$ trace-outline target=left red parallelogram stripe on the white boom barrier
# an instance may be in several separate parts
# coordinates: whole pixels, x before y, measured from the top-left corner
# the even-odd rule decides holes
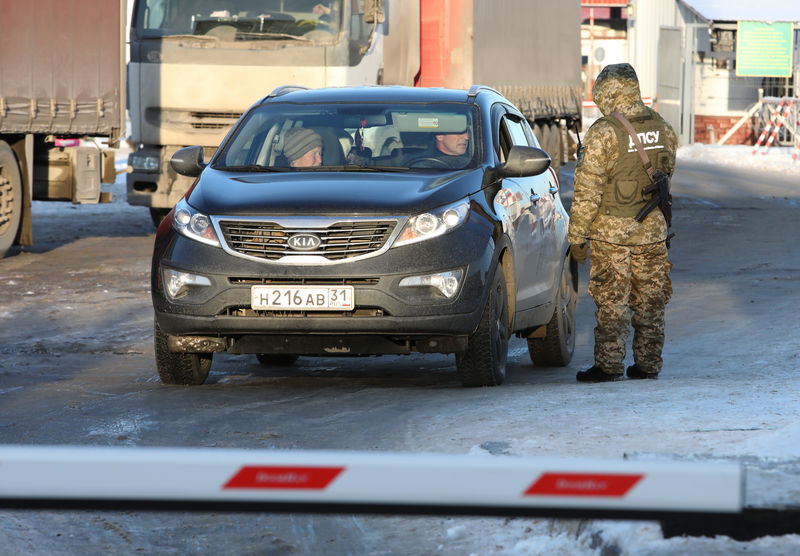
[[[344,471],[344,467],[245,465],[222,488],[322,490],[342,471]]]

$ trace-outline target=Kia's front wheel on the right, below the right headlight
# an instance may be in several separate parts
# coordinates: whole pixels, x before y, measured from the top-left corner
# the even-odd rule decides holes
[[[506,377],[508,359],[508,296],[506,277],[498,265],[478,329],[467,349],[456,353],[456,369],[464,386],[497,386]]]

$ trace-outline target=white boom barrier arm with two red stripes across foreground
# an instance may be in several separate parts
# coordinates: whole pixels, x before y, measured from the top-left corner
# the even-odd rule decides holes
[[[635,516],[736,513],[742,499],[733,464],[0,446],[0,507]]]

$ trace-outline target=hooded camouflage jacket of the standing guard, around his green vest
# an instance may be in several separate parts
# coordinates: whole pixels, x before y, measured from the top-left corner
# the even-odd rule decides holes
[[[669,173],[675,168],[678,138],[672,127],[656,112],[647,108],[639,92],[639,80],[630,64],[606,66],[592,88],[594,102],[604,117],[586,132],[583,149],[575,167],[575,193],[570,210],[569,241],[585,243],[597,239],[617,245],[645,245],[667,238],[667,224],[661,211],[652,211],[644,222],[634,218],[600,213],[608,177],[619,157],[620,145],[613,124],[608,121],[617,111],[627,118],[647,115],[660,120],[665,129],[666,145],[671,154]],[[624,147],[627,148],[627,145]]]

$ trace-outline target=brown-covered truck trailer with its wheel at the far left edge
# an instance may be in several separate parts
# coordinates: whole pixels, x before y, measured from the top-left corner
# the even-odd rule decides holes
[[[31,201],[109,200],[97,140],[125,130],[125,17],[124,0],[0,0],[0,257],[33,243]]]

